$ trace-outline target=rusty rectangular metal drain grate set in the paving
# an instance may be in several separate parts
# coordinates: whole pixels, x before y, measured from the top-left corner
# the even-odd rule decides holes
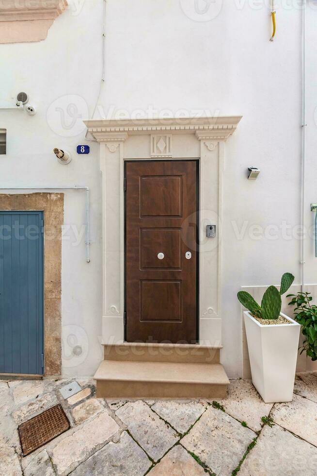
[[[70,428],[61,405],[48,408],[18,427],[22,454],[26,456]]]

